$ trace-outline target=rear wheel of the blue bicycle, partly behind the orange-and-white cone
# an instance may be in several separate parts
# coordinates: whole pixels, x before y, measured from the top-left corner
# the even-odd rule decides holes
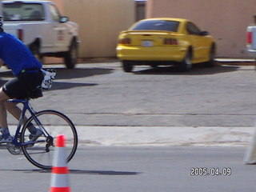
[[[78,134],[73,122],[66,115],[55,110],[42,110],[31,116],[22,128],[22,151],[26,158],[34,165],[42,169],[51,169],[54,158],[55,140],[59,134],[66,137],[66,162],[73,158],[78,146]],[[38,119],[38,121],[36,120]],[[31,145],[24,145],[30,141],[29,123],[40,128],[44,134],[37,138]]]

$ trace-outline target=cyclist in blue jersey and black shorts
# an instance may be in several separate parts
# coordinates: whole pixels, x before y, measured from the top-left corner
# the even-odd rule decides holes
[[[27,98],[32,90],[41,86],[43,74],[42,64],[23,42],[3,31],[2,18],[0,19],[0,66],[5,63],[15,76],[0,88],[0,131],[2,133],[0,143],[6,143],[13,140],[8,129],[6,110],[15,118],[19,118],[22,113],[17,104],[6,101],[10,98]],[[32,140],[42,134],[41,130],[34,127],[32,123],[28,125],[28,129]]]

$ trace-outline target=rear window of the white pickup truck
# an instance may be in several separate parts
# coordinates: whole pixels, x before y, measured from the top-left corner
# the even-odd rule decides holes
[[[4,21],[42,21],[45,19],[40,3],[6,3],[3,4]]]

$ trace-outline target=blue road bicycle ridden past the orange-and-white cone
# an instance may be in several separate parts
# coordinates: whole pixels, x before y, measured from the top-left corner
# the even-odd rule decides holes
[[[54,139],[57,135],[65,134],[66,136],[66,162],[70,162],[78,147],[78,134],[73,122],[65,114],[57,110],[35,111],[30,105],[30,98],[38,97],[42,97],[41,87],[35,89],[29,98],[7,100],[7,102],[17,104],[22,103],[23,108],[13,141],[0,144],[0,146],[6,147],[10,154],[21,154],[23,152],[26,159],[34,166],[49,170],[52,168]],[[30,114],[30,118],[23,123],[26,113]],[[31,125],[31,123],[42,131],[42,135],[35,141],[31,141],[30,131],[28,130],[28,125]]]

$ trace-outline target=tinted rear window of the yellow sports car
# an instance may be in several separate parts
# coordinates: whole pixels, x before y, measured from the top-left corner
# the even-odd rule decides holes
[[[177,32],[179,22],[167,20],[147,20],[138,22],[132,30],[168,30]]]

